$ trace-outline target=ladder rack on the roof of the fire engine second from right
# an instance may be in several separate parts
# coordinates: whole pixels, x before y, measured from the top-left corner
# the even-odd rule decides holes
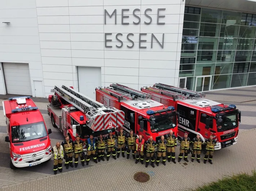
[[[149,93],[140,92],[138,90],[129,88],[129,87],[121,85],[121,84],[110,84],[110,87],[113,88],[114,90],[129,93],[131,96],[135,95],[138,98],[142,98],[142,99],[150,99],[151,98],[151,95]]]

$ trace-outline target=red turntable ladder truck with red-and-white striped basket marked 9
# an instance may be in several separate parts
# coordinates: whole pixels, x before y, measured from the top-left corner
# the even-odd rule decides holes
[[[48,115],[52,125],[73,141],[77,135],[84,141],[90,134],[107,136],[108,131],[124,125],[124,112],[79,93],[72,87],[56,85],[49,95]],[[86,151],[86,145],[83,145]]]

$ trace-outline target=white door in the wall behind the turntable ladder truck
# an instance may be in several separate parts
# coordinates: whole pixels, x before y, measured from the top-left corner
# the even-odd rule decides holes
[[[79,92],[96,99],[95,88],[98,87],[101,87],[101,67],[78,66]]]

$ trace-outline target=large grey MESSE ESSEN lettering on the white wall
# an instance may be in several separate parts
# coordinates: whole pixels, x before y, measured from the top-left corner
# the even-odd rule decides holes
[[[104,10],[104,24],[107,24],[107,18],[111,19],[112,17],[115,17],[115,24],[116,23],[116,17],[121,16],[122,17],[122,25],[129,25],[129,24],[141,24],[141,18],[140,18],[140,9],[134,9],[133,10],[133,15],[125,15],[125,13],[128,13],[130,9],[122,9],[122,15],[117,15],[116,13],[116,9],[109,14],[109,12],[105,9]],[[152,9],[148,8],[144,11],[145,17],[147,17],[147,21],[144,21],[144,24],[151,24],[152,19],[156,19],[156,24],[157,25],[164,25],[165,23],[163,22],[163,18],[165,17],[165,15],[160,15],[160,11],[164,11],[165,8],[159,8],[157,9],[157,15],[150,15],[150,12],[152,11]],[[137,19],[136,21],[133,21],[132,23],[128,23],[127,21],[125,21],[125,19],[129,18],[129,17],[134,17],[135,19]],[[152,18],[152,17],[155,18]],[[105,39],[105,47],[106,48],[112,48],[112,46],[107,45],[108,42],[112,42],[112,33],[105,33],[104,34],[104,39]],[[151,35],[151,48],[153,48],[153,42],[156,41],[157,44],[161,47],[164,48],[164,33],[162,34],[162,39],[159,41],[159,39],[156,38],[155,34],[153,33],[139,33],[139,48],[147,48],[145,45],[143,45],[144,42],[147,42],[145,40],[145,36],[147,35]],[[128,33],[126,38],[129,41],[129,45],[126,45],[128,48],[133,48],[134,47],[134,41],[133,41],[133,37],[134,34],[133,33]],[[122,33],[117,33],[115,35],[116,40],[119,42],[119,45],[115,45],[118,48],[122,48],[124,46],[124,43],[122,41],[122,37],[123,34]]]

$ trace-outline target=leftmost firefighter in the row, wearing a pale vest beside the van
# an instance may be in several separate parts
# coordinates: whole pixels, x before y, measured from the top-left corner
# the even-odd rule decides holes
[[[53,153],[53,172],[54,174],[57,174],[57,171],[59,169],[59,172],[62,172],[62,159],[64,157],[64,151],[63,146],[59,143],[59,141],[56,143],[56,146],[52,148]]]

